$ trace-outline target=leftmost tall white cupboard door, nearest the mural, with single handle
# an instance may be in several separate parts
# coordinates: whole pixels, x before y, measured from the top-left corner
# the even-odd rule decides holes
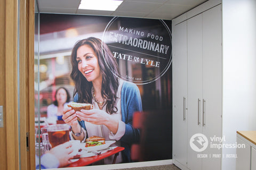
[[[187,166],[187,21],[173,35],[173,159]],[[180,167],[180,166],[179,166]],[[180,167],[182,169],[182,167]]]

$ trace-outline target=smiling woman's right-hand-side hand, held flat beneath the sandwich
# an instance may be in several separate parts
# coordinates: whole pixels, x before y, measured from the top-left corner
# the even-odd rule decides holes
[[[113,116],[110,116],[107,112],[102,111],[100,109],[82,109],[81,112],[77,111],[76,115],[81,120],[84,120],[86,122],[98,125],[106,125],[107,128],[113,133],[116,133],[118,130],[118,120],[113,118]]]

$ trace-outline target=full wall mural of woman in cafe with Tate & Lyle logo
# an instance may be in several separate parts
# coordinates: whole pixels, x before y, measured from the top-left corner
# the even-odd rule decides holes
[[[172,159],[171,21],[39,16],[37,168]]]

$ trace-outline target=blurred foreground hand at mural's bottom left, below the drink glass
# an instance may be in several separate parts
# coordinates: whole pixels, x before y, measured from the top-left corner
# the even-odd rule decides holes
[[[74,157],[69,155],[71,152],[73,152],[71,146],[72,144],[70,142],[66,142],[52,148],[51,150],[47,151],[47,153],[54,155],[59,160],[59,167],[64,167],[70,164],[71,161],[69,159]]]

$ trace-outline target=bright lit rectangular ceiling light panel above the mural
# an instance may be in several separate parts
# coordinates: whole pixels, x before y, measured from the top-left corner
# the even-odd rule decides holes
[[[122,4],[119,0],[82,0],[79,10],[115,11]]]

